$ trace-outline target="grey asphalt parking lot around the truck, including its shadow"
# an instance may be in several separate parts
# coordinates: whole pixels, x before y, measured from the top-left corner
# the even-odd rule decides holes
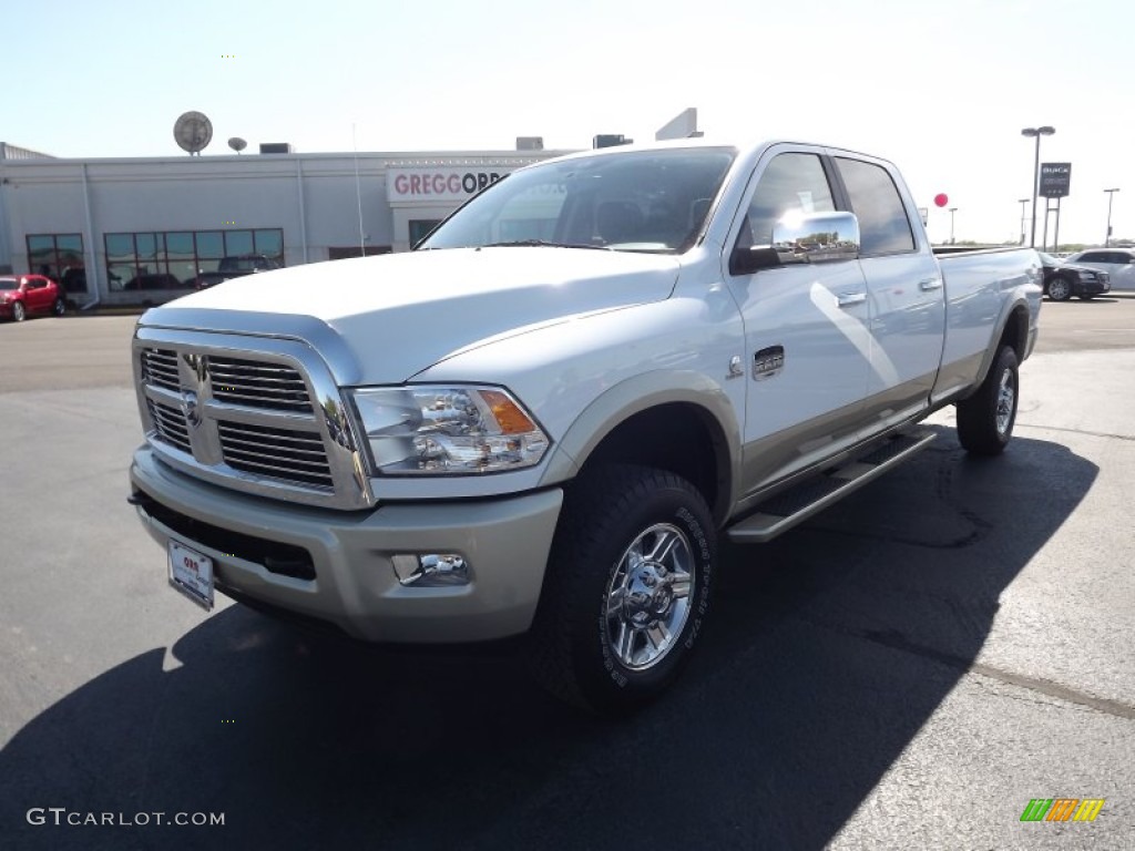
[[[505,651],[170,590],[125,503],[133,321],[0,326],[0,846],[1133,848],[1135,296],[1044,304],[1002,457],[943,412],[903,467],[725,547],[700,655],[617,723]],[[1023,823],[1037,798],[1105,802]]]

